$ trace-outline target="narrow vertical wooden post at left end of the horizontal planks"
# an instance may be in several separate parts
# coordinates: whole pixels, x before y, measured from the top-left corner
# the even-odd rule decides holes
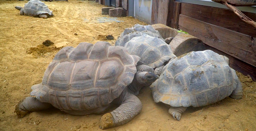
[[[172,21],[171,21],[170,26],[175,29],[178,28],[180,5],[181,5],[180,2],[174,2],[174,5],[173,5],[173,15],[172,15]]]

